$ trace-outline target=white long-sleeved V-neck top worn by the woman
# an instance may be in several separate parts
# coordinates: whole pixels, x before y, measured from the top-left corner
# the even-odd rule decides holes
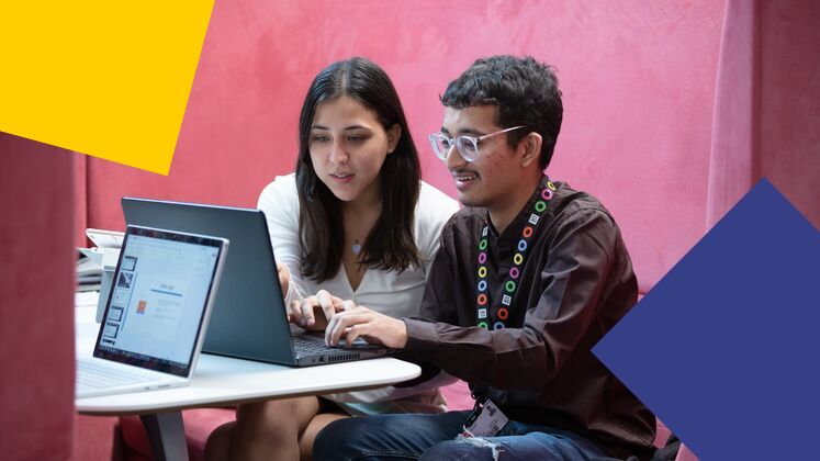
[[[422,182],[415,210],[413,235],[418,248],[420,267],[401,273],[394,270],[369,268],[359,286],[353,290],[344,268],[322,283],[304,278],[300,272],[302,250],[299,245],[299,195],[296,178],[291,173],[277,177],[259,195],[257,207],[265,212],[268,232],[277,261],[288,265],[291,280],[285,303],[315,294],[318,290],[342,300],[352,300],[391,317],[409,317],[418,313],[427,273],[438,251],[441,228],[459,209],[458,202],[433,185]],[[447,376],[434,379],[416,387],[382,387],[371,391],[325,395],[351,414],[396,412],[439,412],[445,402],[435,385],[447,383]]]

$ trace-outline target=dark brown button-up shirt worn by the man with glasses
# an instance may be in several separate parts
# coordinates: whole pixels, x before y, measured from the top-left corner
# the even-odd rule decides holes
[[[495,312],[538,191],[502,235],[483,209],[448,222],[419,316],[404,319],[405,351],[488,394],[510,419],[579,432],[610,456],[643,458],[654,416],[591,352],[637,302],[632,263],[600,202],[554,184],[529,239],[508,327],[494,330],[497,318],[488,329],[476,326],[479,240],[488,224],[487,306]]]

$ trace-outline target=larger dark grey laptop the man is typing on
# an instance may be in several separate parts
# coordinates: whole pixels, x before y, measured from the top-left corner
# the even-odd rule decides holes
[[[308,367],[372,359],[390,349],[357,342],[327,347],[324,336],[292,331],[265,213],[256,209],[123,198],[125,222],[231,240],[203,352]]]

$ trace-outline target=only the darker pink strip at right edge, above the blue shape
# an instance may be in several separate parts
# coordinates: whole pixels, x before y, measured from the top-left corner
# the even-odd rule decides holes
[[[760,172],[820,228],[820,2],[759,3]]]

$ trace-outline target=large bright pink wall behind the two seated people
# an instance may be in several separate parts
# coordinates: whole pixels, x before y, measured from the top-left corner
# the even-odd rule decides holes
[[[705,231],[722,14],[712,0],[217,1],[169,177],[91,159],[89,225],[122,228],[124,194],[254,205],[293,168],[311,79],[350,55],[391,75],[425,179],[452,194],[426,144],[438,94],[476,57],[531,54],[564,92],[549,171],[610,207],[645,289]]]

